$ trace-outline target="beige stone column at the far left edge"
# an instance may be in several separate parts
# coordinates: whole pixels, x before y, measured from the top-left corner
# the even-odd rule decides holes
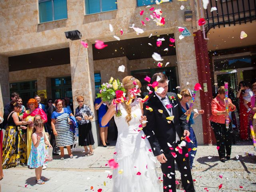
[[[9,62],[6,56],[0,56],[0,71],[0,110],[4,112],[4,105],[10,102]]]

